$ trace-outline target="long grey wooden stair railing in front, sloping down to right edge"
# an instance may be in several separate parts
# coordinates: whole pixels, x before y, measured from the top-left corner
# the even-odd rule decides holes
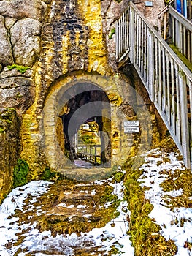
[[[117,22],[116,40],[117,60],[128,54],[191,168],[192,73],[132,2]]]

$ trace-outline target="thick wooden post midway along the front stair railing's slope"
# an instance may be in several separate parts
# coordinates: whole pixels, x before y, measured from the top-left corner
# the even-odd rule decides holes
[[[154,39],[153,39],[153,34],[150,33],[148,30],[147,34],[147,68],[148,68],[148,86],[149,86],[149,94],[150,94],[150,99],[152,102],[154,102],[155,99],[155,87],[154,87]]]

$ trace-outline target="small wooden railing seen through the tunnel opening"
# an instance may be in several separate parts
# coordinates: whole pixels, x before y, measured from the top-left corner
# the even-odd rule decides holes
[[[101,145],[78,145],[77,154],[85,161],[91,162],[94,165],[101,164]]]

